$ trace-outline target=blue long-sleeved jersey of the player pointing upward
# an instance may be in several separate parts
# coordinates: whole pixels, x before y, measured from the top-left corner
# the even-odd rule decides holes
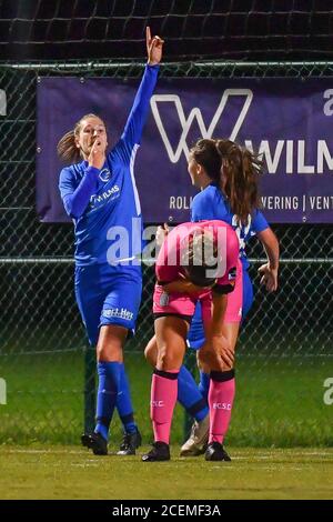
[[[103,168],[97,170],[97,183],[83,213],[72,215],[79,267],[108,263],[121,270],[140,264],[142,215],[133,167],[158,71],[158,66],[145,67],[123,134],[108,153]],[[61,171],[59,188],[65,208],[67,198],[77,190],[87,171],[87,161]]]

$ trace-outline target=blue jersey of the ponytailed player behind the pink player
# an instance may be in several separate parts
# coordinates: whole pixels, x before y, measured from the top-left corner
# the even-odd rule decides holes
[[[248,224],[240,225],[236,217],[232,213],[230,204],[219,187],[211,183],[193,198],[191,205],[191,221],[220,219],[231,224],[240,240],[240,259],[243,268],[249,268],[245,247],[251,237],[269,228],[269,223],[260,210],[249,215]]]

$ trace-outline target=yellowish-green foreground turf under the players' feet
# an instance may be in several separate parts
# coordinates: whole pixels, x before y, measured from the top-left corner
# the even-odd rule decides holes
[[[140,454],[144,449],[140,449]],[[1,446],[1,499],[332,499],[333,449],[236,449],[232,462],[143,463],[78,446]]]

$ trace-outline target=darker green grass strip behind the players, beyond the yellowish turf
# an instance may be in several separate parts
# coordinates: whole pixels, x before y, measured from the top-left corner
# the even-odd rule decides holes
[[[128,353],[127,367],[137,420],[148,444],[151,369],[141,353]],[[79,442],[83,425],[82,352],[2,357],[0,377],[8,388],[7,405],[0,405],[0,444]],[[332,446],[333,404],[323,400],[323,384],[331,377],[330,359],[240,357],[228,445]],[[111,440],[119,442],[121,430],[117,414],[114,418]],[[178,406],[172,443],[183,439],[183,418]]]

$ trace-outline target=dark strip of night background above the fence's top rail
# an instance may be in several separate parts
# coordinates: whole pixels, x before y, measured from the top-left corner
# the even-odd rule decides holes
[[[0,0],[0,60],[306,60],[333,56],[331,0]]]

